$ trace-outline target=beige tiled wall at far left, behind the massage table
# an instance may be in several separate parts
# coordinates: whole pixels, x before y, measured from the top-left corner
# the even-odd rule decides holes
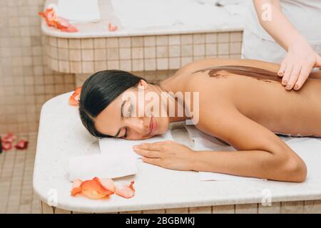
[[[41,105],[74,88],[45,64],[38,11],[44,0],[0,0],[0,133],[38,130]]]

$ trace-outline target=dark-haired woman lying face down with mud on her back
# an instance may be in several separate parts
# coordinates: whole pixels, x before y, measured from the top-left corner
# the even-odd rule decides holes
[[[126,71],[99,71],[81,89],[81,121],[97,138],[141,140],[165,133],[171,122],[191,120],[238,152],[195,152],[173,141],[133,150],[144,162],[173,170],[302,182],[305,163],[275,133],[320,137],[321,75],[312,73],[301,90],[288,91],[278,67],[208,58],[189,63],[159,84]]]

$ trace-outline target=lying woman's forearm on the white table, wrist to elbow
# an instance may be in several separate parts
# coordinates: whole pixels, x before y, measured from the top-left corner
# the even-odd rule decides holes
[[[289,170],[286,160],[263,150],[197,151],[193,154],[191,170],[258,177],[268,180],[302,181],[300,175],[297,175],[293,170]]]

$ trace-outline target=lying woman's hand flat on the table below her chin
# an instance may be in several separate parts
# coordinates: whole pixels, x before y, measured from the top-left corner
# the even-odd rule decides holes
[[[170,170],[192,170],[194,151],[185,145],[171,140],[142,143],[133,150],[143,156],[143,162],[158,165]]]

